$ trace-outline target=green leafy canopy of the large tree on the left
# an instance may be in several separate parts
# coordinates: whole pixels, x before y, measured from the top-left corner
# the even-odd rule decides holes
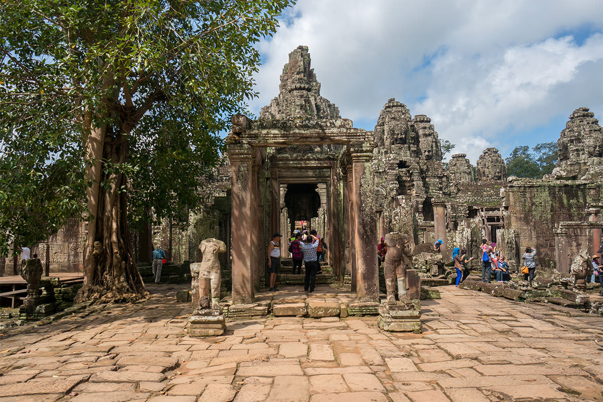
[[[218,133],[257,95],[254,46],[289,4],[3,0],[0,144],[13,145],[1,154],[0,196],[13,201],[1,210],[0,251],[44,239],[74,213],[95,184],[87,173],[83,183],[83,171],[98,160],[101,189],[117,183],[111,173],[127,175],[119,190],[135,219],[195,203],[197,178],[218,160]],[[95,130],[106,133],[105,149],[124,143],[127,158],[87,152]],[[44,219],[24,224],[40,208]]]

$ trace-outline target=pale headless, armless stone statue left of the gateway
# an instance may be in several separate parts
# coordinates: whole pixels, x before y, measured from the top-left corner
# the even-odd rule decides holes
[[[218,239],[205,239],[199,245],[203,261],[191,264],[191,273],[199,272],[199,307],[209,309],[211,289],[211,308],[219,310],[221,273],[218,253],[226,253],[226,244]]]

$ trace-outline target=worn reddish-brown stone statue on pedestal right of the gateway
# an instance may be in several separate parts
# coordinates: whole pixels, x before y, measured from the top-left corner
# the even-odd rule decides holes
[[[410,304],[411,300],[406,296],[408,281],[406,280],[406,268],[412,266],[412,251],[414,243],[406,234],[392,232],[385,235],[385,288],[387,289],[388,306],[396,303],[396,284],[398,286],[399,304]]]

